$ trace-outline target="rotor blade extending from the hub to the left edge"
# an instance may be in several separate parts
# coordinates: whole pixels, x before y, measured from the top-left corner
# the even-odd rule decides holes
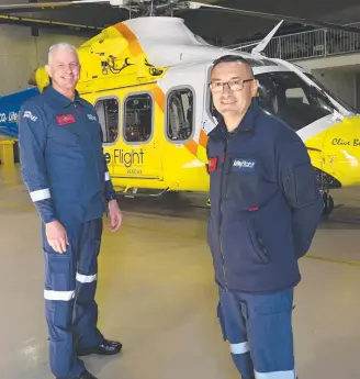
[[[74,1],[57,1],[57,2],[36,2],[36,3],[24,3],[24,4],[0,4],[0,13],[12,13],[12,12],[36,12],[41,10],[50,10],[55,8],[69,8],[74,5],[86,5],[86,4],[109,4],[117,8],[126,8],[126,0],[74,0]]]

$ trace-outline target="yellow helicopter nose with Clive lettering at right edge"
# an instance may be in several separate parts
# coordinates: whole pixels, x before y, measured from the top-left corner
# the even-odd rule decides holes
[[[342,187],[360,185],[360,116],[330,126],[323,148],[324,171]]]

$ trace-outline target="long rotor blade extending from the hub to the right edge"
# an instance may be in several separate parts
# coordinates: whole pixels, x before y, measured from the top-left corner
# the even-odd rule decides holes
[[[188,9],[218,10],[218,11],[228,12],[228,13],[233,13],[233,14],[238,13],[238,14],[244,14],[244,15],[258,16],[258,18],[262,18],[262,19],[280,20],[280,21],[283,20],[283,21],[296,23],[296,24],[312,25],[315,27],[328,27],[328,29],[334,29],[334,30],[338,30],[338,31],[342,31],[342,32],[360,34],[360,29],[357,29],[357,27],[342,26],[342,25],[333,24],[333,23],[328,23],[328,22],[322,22],[322,21],[311,21],[311,20],[305,20],[305,19],[295,18],[295,16],[291,16],[291,15],[246,11],[243,9],[211,5],[211,4],[205,4],[205,3],[196,2],[196,1],[187,1],[187,7],[188,7]]]

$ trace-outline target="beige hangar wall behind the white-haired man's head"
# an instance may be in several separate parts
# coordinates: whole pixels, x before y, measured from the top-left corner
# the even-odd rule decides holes
[[[26,89],[30,75],[46,63],[53,43],[66,41],[78,46],[86,40],[43,29],[34,37],[29,26],[0,25],[0,96]]]

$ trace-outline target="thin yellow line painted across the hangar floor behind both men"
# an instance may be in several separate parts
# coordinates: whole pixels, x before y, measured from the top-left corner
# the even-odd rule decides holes
[[[26,205],[26,204],[22,204],[22,203],[13,203],[13,202],[5,202],[5,201],[0,201],[0,207],[19,208],[19,209],[23,209],[23,210],[30,210],[30,209],[35,210],[34,205]],[[126,212],[124,212],[124,213],[126,213]],[[138,225],[132,225],[132,224],[127,224],[126,222],[122,225],[122,227],[135,228],[135,230],[147,231],[147,232],[155,232],[155,233],[165,234],[165,235],[173,235],[173,236],[178,236],[178,237],[182,237],[182,238],[205,241],[202,237],[187,235],[184,233],[178,233],[178,232],[173,232],[173,231],[169,231],[169,230],[165,230],[165,228],[159,228],[159,227],[144,227],[144,226],[138,226]],[[319,256],[315,256],[315,255],[306,255],[304,258],[314,259],[314,260],[322,260],[322,261],[338,264],[338,265],[360,267],[360,261],[357,261],[357,260],[335,259],[335,258],[319,257]]]

